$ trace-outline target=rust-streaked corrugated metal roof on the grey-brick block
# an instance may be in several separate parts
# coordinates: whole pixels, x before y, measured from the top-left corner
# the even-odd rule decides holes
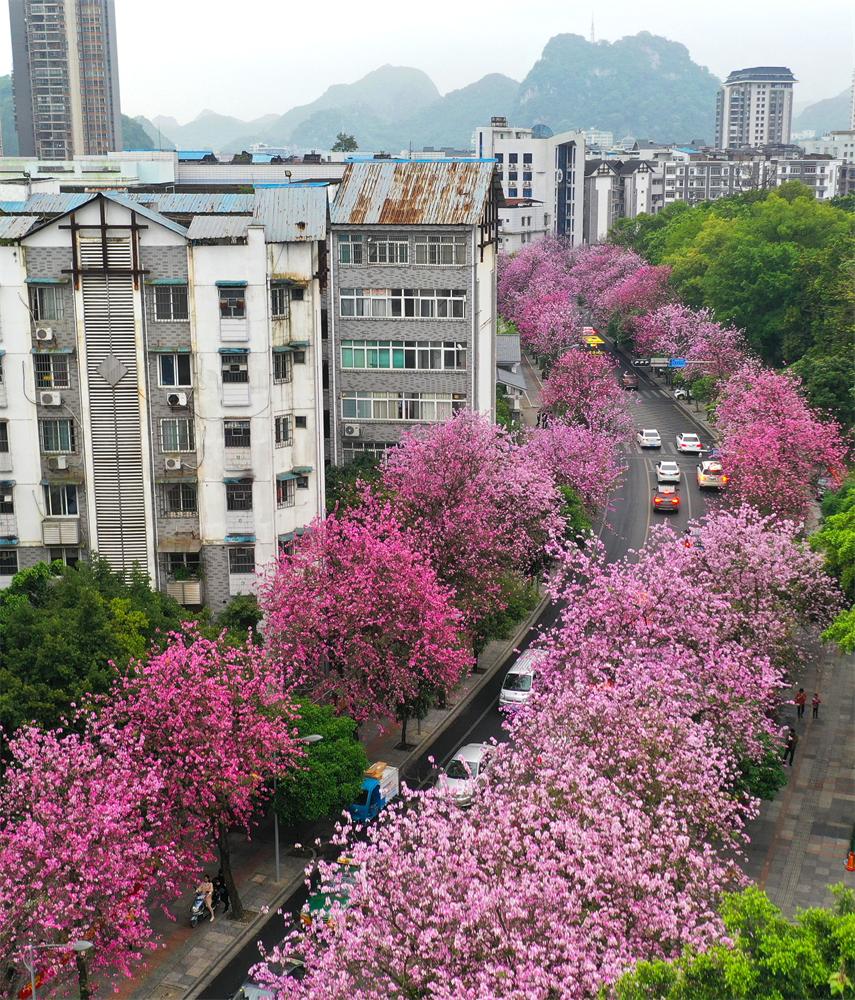
[[[348,164],[330,209],[335,225],[473,226],[484,214],[494,164],[399,160]]]

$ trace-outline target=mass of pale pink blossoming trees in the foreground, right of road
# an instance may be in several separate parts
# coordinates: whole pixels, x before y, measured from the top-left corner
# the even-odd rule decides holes
[[[796,633],[833,614],[821,559],[749,509],[688,546],[663,527],[618,564],[593,541],[556,554],[541,682],[471,809],[440,785],[365,840],[345,830],[362,865],[350,906],[255,970],[278,997],[589,998],[640,959],[721,939],[756,807],[739,762],[777,736]],[[302,982],[281,972],[295,948]]]

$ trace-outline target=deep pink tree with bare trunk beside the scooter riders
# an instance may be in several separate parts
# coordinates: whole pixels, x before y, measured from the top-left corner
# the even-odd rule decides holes
[[[288,671],[251,640],[232,647],[187,624],[162,652],[129,666],[91,722],[102,746],[132,753],[141,771],[162,776],[152,809],[171,817],[188,853],[216,845],[235,919],[243,907],[229,829],[248,830],[274,775],[303,755],[290,684]]]

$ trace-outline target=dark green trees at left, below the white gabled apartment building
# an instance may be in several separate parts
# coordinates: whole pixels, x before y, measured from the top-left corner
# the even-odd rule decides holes
[[[184,617],[145,574],[123,577],[97,558],[22,570],[0,592],[0,725],[55,725],[106,690],[111,661],[144,656]]]

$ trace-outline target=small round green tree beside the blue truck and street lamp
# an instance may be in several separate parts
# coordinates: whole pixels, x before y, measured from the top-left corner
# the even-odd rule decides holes
[[[368,767],[353,719],[311,701],[298,702],[298,708],[300,736],[323,739],[306,744],[302,766],[289,771],[276,788],[274,808],[287,826],[335,816],[355,802]]]

